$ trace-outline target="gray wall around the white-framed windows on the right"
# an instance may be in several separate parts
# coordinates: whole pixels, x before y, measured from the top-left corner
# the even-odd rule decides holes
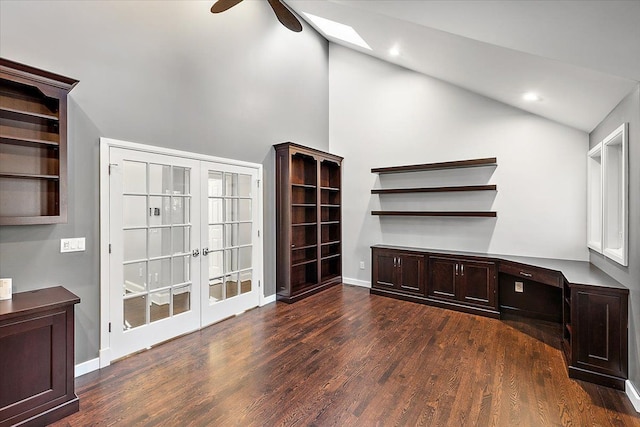
[[[589,146],[625,122],[629,123],[629,266],[594,251],[589,259],[629,288],[629,380],[640,390],[640,85],[591,132]]]

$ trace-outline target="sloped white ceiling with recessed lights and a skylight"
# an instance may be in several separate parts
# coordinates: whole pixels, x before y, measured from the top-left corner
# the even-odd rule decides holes
[[[286,3],[352,26],[372,50],[332,42],[585,132],[640,81],[640,0]]]

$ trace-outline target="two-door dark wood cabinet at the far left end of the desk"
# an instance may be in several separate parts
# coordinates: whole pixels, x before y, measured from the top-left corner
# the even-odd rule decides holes
[[[373,252],[373,283],[376,289],[424,296],[425,256],[398,251]]]

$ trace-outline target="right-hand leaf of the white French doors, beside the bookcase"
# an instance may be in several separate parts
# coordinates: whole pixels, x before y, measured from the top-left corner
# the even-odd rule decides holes
[[[202,164],[202,326],[259,303],[258,177],[256,169]]]

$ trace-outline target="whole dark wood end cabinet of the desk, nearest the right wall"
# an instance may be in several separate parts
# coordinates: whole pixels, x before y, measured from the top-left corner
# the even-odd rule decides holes
[[[565,353],[571,378],[625,389],[628,289],[569,285]]]

